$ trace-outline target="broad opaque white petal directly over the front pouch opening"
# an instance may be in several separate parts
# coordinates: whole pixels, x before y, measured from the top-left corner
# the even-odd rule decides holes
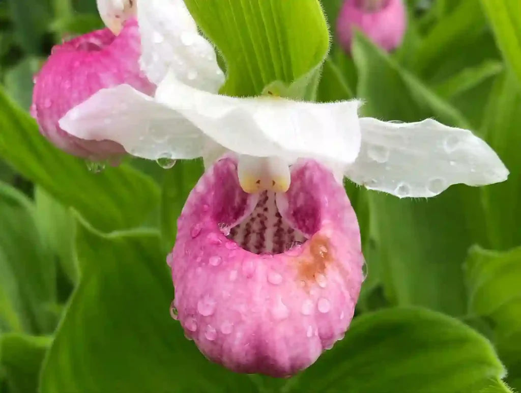
[[[316,104],[264,96],[229,97],[193,89],[171,73],[158,86],[156,100],[238,154],[350,164],[360,148],[357,101]]]

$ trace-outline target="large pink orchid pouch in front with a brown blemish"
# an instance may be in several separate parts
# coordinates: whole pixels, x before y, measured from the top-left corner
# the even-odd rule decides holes
[[[210,360],[293,375],[344,336],[363,281],[355,213],[331,172],[291,168],[283,193],[247,194],[220,159],[190,193],[167,262],[172,316]]]

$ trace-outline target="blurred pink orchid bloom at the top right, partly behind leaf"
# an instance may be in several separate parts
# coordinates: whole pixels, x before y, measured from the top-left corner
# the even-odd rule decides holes
[[[401,45],[407,27],[403,0],[345,0],[337,19],[337,35],[351,52],[354,29],[390,52]]]

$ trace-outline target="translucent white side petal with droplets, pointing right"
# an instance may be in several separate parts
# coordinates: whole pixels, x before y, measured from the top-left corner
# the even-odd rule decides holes
[[[508,170],[490,146],[468,130],[427,119],[415,123],[362,118],[362,148],[346,176],[397,197],[433,197],[453,184],[483,186]]]

